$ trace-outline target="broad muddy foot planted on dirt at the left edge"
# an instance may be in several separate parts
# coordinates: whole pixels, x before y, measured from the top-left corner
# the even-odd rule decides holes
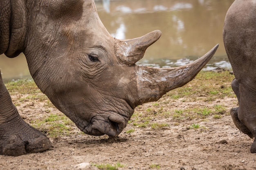
[[[43,152],[52,147],[45,134],[27,124],[21,117],[15,122],[0,124],[0,129],[1,155],[20,156]]]

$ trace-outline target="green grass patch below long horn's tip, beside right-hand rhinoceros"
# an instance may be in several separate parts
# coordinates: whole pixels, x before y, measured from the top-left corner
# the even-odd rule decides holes
[[[172,99],[186,98],[186,101],[213,101],[222,97],[234,97],[231,82],[234,75],[229,71],[201,71],[189,84],[167,93]]]

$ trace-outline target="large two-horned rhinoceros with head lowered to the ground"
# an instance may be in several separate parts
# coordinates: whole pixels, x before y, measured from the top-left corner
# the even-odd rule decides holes
[[[0,7],[0,53],[23,52],[40,90],[89,135],[117,137],[137,105],[191,81],[218,48],[178,68],[137,66],[161,32],[117,40],[101,23],[93,0],[1,0]],[[2,78],[0,139],[2,155],[52,146],[20,117]]]

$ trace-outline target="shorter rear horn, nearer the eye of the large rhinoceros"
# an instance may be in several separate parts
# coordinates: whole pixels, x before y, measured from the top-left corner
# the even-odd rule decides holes
[[[161,35],[161,31],[155,30],[139,38],[130,40],[116,39],[115,52],[119,61],[125,65],[134,65],[143,57],[148,46],[156,42]]]

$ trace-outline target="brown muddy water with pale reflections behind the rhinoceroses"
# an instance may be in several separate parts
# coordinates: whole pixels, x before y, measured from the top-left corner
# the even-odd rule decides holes
[[[189,63],[220,44],[205,69],[230,67],[222,42],[227,9],[234,0],[96,0],[103,24],[113,37],[130,39],[159,29],[162,37],[137,64],[172,67]],[[6,80],[30,77],[24,55],[0,55]]]

